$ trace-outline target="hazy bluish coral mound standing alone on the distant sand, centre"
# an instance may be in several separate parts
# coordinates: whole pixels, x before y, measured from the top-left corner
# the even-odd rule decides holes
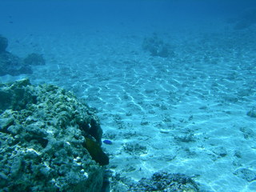
[[[142,49],[149,51],[152,56],[159,56],[162,58],[174,56],[174,52],[170,50],[170,45],[163,42],[156,34],[151,38],[144,38]]]

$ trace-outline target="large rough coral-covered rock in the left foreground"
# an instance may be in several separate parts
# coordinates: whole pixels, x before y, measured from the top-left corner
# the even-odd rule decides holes
[[[104,166],[85,138],[100,146],[102,129],[70,92],[28,79],[0,84],[2,191],[101,191]]]

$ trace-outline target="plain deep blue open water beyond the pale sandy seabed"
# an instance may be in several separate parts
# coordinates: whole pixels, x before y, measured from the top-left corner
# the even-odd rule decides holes
[[[95,27],[164,30],[174,24],[208,22],[240,14],[254,1],[1,1],[2,33]],[[12,22],[12,23],[10,23]],[[177,27],[177,26],[174,26]]]

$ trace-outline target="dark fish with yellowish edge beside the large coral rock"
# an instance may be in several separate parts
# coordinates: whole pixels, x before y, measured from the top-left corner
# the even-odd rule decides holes
[[[109,164],[109,157],[103,152],[102,147],[91,138],[86,138],[86,150],[88,150],[91,158],[98,162],[99,165],[106,166]]]

